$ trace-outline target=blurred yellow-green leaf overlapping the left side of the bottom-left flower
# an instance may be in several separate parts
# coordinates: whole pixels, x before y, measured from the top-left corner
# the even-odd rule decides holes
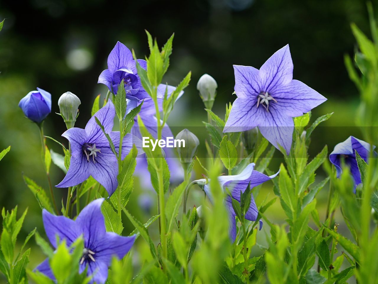
[[[60,243],[51,257],[50,266],[58,283],[64,282],[71,272],[72,257],[65,240]]]

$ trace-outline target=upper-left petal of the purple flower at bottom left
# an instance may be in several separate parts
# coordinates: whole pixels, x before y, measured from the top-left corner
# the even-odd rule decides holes
[[[46,235],[54,248],[57,247],[56,236],[59,242],[65,239],[67,246],[70,246],[81,234],[75,222],[67,217],[55,216],[43,209],[42,219]]]

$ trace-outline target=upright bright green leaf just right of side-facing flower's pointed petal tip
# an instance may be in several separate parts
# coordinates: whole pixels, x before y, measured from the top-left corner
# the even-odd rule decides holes
[[[294,192],[293,183],[291,182],[291,178],[288,175],[285,166],[281,164],[280,166],[280,174],[279,174],[279,190],[280,190],[280,196],[281,199],[287,204],[288,208],[290,209],[290,212],[288,214],[288,217],[293,215],[293,212],[296,210],[297,206],[297,197]]]

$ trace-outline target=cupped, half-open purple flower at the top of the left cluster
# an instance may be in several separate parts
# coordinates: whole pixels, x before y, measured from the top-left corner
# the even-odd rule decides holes
[[[146,60],[137,59],[137,61],[142,68],[147,68]],[[131,51],[118,41],[108,56],[108,69],[102,71],[98,83],[106,85],[109,91],[117,94],[118,85],[122,80],[127,98],[141,100],[149,97],[142,87]]]

